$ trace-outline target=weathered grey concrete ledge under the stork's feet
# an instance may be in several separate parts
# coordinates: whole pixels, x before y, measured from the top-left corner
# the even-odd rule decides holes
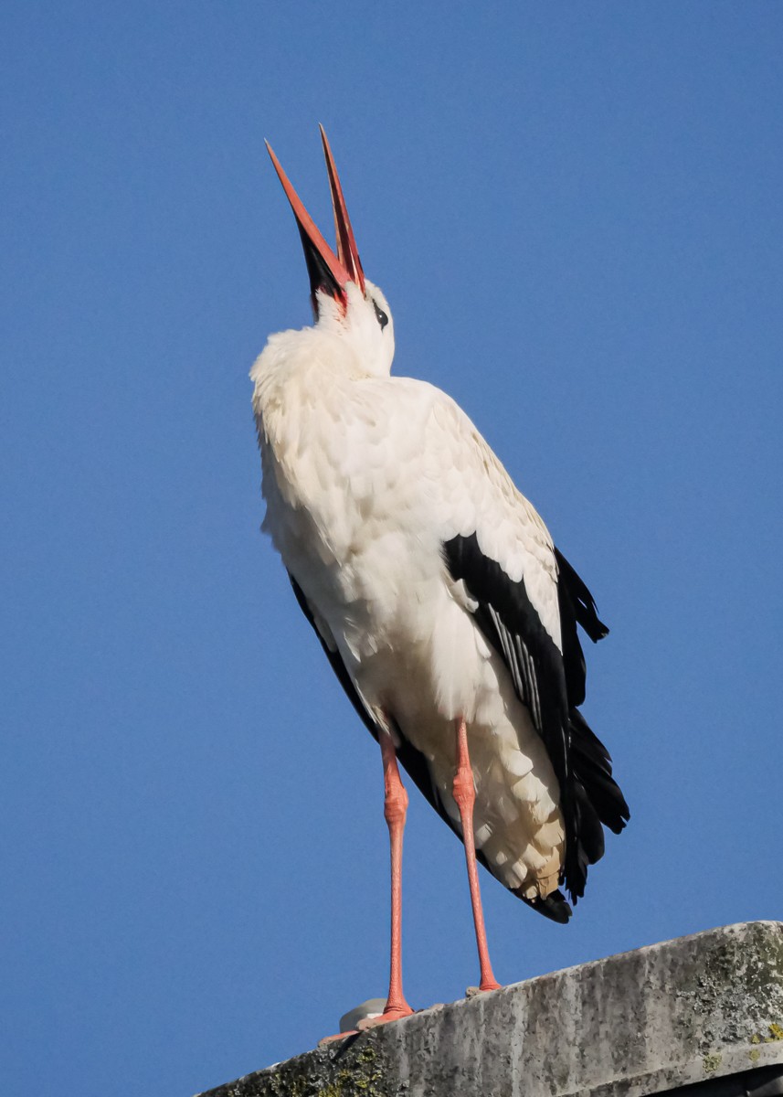
[[[740,1073],[736,1093],[783,1093],[775,1064],[783,924],[751,921],[435,1006],[202,1097],[642,1097]]]

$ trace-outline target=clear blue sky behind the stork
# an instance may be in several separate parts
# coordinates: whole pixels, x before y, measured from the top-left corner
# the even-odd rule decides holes
[[[259,533],[247,377],[309,321],[269,137],[329,133],[396,372],[449,391],[611,636],[631,803],[526,979],[783,914],[775,2],[25,3],[0,36],[3,1086],[192,1094],[383,995],[381,762]],[[328,793],[328,798],[325,795]],[[476,979],[459,846],[406,833],[411,1003]]]

